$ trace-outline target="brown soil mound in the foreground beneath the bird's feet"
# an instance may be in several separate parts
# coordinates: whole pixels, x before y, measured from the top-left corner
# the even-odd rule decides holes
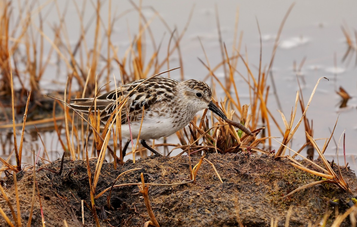
[[[347,194],[335,185],[323,184],[298,191],[289,198],[282,196],[294,189],[313,182],[316,176],[300,171],[286,160],[276,161],[267,155],[211,154],[206,157],[216,167],[223,184],[217,178],[212,166],[203,162],[197,174],[196,183],[175,186],[150,186],[149,198],[152,210],[161,226],[270,226],[271,218],[278,219],[278,226],[284,226],[288,208],[293,205],[290,226],[306,226],[310,221],[316,224],[323,215],[332,211],[328,224],[335,219],[335,207],[330,200],[338,199],[338,212],[345,212],[347,203],[356,195],[356,175],[350,169],[343,170],[353,195]],[[90,160],[94,172],[96,159]],[[199,158],[192,158],[192,166]],[[317,161],[319,165],[322,165]],[[58,171],[61,160],[41,167]],[[308,166],[308,164],[304,163]],[[127,161],[114,170],[112,163],[105,162],[97,185],[97,192],[111,186],[116,177],[126,170],[141,167],[126,173],[115,184],[140,182],[140,172],[145,182],[174,184],[188,181],[188,157],[164,158],[150,156]],[[309,166],[314,169],[312,166]],[[337,171],[336,165],[334,169]],[[316,169],[315,169],[316,170]],[[46,226],[82,226],[81,200],[84,200],[85,226],[95,226],[91,213],[89,182],[86,162],[65,158],[62,174],[57,176],[49,170],[36,172]],[[18,175],[18,178],[21,178]],[[31,207],[33,176],[27,172],[18,180],[22,223],[27,223]],[[6,194],[16,210],[14,186],[7,179]],[[139,188],[136,185],[116,187],[112,191],[110,207],[106,192],[95,200],[101,226],[143,226],[150,218]],[[12,220],[9,206],[0,196],[0,207]],[[336,210],[337,211],[337,210]],[[3,218],[0,225],[7,226]],[[35,196],[35,207],[31,226],[41,226],[39,198]],[[343,226],[350,226],[347,220]]]

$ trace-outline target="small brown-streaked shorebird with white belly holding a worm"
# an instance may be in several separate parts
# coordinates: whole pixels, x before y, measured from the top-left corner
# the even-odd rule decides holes
[[[131,92],[136,86],[138,87],[135,91]],[[171,78],[156,76],[151,79],[138,79],[96,97],[96,108],[100,110],[102,122],[106,123],[116,110],[117,99],[122,100],[128,94],[126,107],[121,111],[121,134],[128,139],[131,138],[130,133],[133,139],[138,137],[144,107],[140,131],[141,144],[157,155],[160,154],[147,145],[145,140],[174,134],[190,123],[198,111],[210,109],[222,119],[227,118],[212,102],[211,89],[205,82],[196,79],[178,82]],[[72,100],[77,103],[70,106],[85,114],[89,113],[90,107],[94,107],[94,98]],[[129,142],[130,140],[124,146],[125,150]]]

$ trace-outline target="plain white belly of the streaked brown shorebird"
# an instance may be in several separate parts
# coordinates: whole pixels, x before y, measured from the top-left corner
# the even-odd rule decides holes
[[[169,136],[174,134],[176,131],[185,127],[189,121],[175,121],[175,118],[155,118],[155,119],[148,119],[145,120],[141,125],[141,122],[134,122],[130,124],[130,129],[128,124],[121,125],[121,133],[122,136],[125,138],[132,138],[135,139],[139,135],[139,139],[149,140],[149,139],[159,139],[164,136]]]

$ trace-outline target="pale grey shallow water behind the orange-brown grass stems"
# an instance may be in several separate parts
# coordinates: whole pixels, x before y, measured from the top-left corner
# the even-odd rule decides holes
[[[46,1],[39,1],[44,4]],[[80,24],[78,21],[78,15],[73,2],[58,1],[59,9],[62,12],[65,7],[67,8],[67,14],[65,17],[65,24],[68,30],[70,43],[75,45],[80,35]],[[144,2],[144,6],[147,2]],[[152,7],[159,12],[164,18],[170,29],[177,27],[177,31],[181,32],[185,27],[188,20],[190,10],[193,7],[192,1],[155,1],[150,2]],[[14,2],[16,4],[16,2]],[[225,42],[227,50],[231,53],[231,46],[233,43],[236,12],[239,10],[239,24],[238,32],[243,32],[242,39],[242,53],[247,52],[245,57],[249,59],[249,65],[251,69],[255,70],[259,65],[260,57],[260,36],[257,28],[257,21],[262,34],[262,66],[265,67],[269,64],[271,59],[271,52],[274,45],[275,36],[277,34],[280,23],[283,16],[286,14],[288,7],[291,5],[290,1],[195,1],[195,7],[188,26],[185,36],[183,36],[180,42],[180,49],[183,59],[183,70],[185,73],[185,79],[196,78],[204,79],[208,74],[205,67],[200,63],[197,58],[202,59],[204,62],[205,55],[202,51],[200,38],[202,45],[205,48],[211,67],[221,62],[221,52],[218,42],[218,33],[216,25],[215,5],[217,4],[218,16],[220,20],[222,41]],[[81,5],[79,5],[81,7]],[[116,15],[120,15],[127,9],[132,9],[133,6],[129,1],[120,1],[120,3],[112,2],[112,14],[116,12]],[[338,1],[298,1],[293,7],[288,19],[283,27],[281,33],[279,47],[276,52],[274,64],[273,64],[273,77],[277,88],[277,94],[282,106],[282,112],[288,116],[290,115],[291,108],[295,103],[296,91],[299,89],[297,83],[297,74],[302,86],[303,97],[305,103],[312,92],[315,83],[320,77],[327,77],[329,81],[322,80],[317,88],[316,94],[313,97],[311,106],[307,112],[308,119],[313,119],[314,138],[328,138],[330,136],[330,130],[336,122],[338,123],[335,129],[334,138],[336,143],[340,138],[340,135],[346,130],[346,158],[347,162],[353,169],[357,169],[356,166],[356,142],[357,137],[357,121],[356,121],[356,80],[355,77],[357,69],[355,66],[356,53],[350,54],[351,60],[342,62],[343,55],[347,50],[345,38],[343,36],[341,25],[347,25],[351,31],[356,29],[355,21],[357,19],[355,9],[357,9],[357,1],[348,0],[343,4]],[[15,10],[16,11],[16,10]],[[58,24],[59,17],[56,14],[55,7],[51,4],[45,5],[44,12],[50,11],[50,16],[46,19],[46,25],[44,31],[49,38],[53,38],[53,32],[50,29],[51,24]],[[101,8],[101,15],[105,18],[108,11],[108,2],[106,1]],[[144,7],[144,15],[147,19],[154,17],[150,27],[154,31],[154,39],[157,43],[162,39],[162,48],[159,54],[159,58],[166,57],[167,45],[170,39],[170,33],[165,26],[159,20],[155,13],[149,8]],[[84,21],[89,21],[90,17],[94,13],[94,8],[87,2],[85,8]],[[36,15],[34,15],[36,16]],[[34,22],[36,23],[36,22]],[[107,21],[104,21],[106,24]],[[87,32],[88,37],[86,40],[88,46],[93,42],[91,36],[94,34],[94,26],[91,26]],[[128,34],[130,30],[131,34]],[[114,44],[119,48],[119,56],[129,46],[131,40],[138,31],[138,15],[136,11],[130,11],[124,16],[120,17],[115,23],[114,33],[112,40]],[[163,37],[163,38],[162,38]],[[148,37],[147,37],[148,38]],[[103,40],[106,42],[105,40]],[[147,53],[150,56],[150,50],[152,49],[151,42],[147,42]],[[172,45],[172,44],[171,44]],[[105,46],[105,45],[104,45]],[[50,44],[45,42],[45,52],[50,48]],[[244,51],[243,51],[244,50]],[[246,51],[245,51],[246,50]],[[161,57],[160,57],[161,55]],[[177,55],[176,55],[177,56]],[[336,56],[336,60],[335,60]],[[294,62],[296,62],[296,68],[300,65],[303,59],[306,57],[306,61],[301,68],[301,72],[296,73],[294,69]],[[55,58],[53,63],[55,63]],[[335,63],[336,62],[336,63]],[[178,61],[175,59],[175,55],[170,62],[170,68],[177,67]],[[65,67],[65,65],[60,65]],[[104,66],[103,66],[104,67]],[[162,69],[163,71],[165,70]],[[246,75],[246,68],[242,63],[238,63],[238,71],[243,75]],[[112,72],[117,79],[119,76],[119,69],[114,68]],[[46,70],[45,78],[41,81],[44,92],[49,90],[64,89],[66,81],[66,70],[57,71],[55,66],[49,67]],[[223,79],[223,69],[216,73]],[[170,76],[175,79],[180,79],[180,71],[170,72]],[[53,82],[56,82],[55,84]],[[236,79],[238,90],[242,98],[242,101],[248,104],[248,88],[246,83],[241,79]],[[303,82],[305,81],[305,82]],[[268,83],[271,81],[268,79]],[[336,94],[338,87],[342,86],[352,97],[348,102],[348,107],[340,109],[339,102],[340,97]],[[217,97],[222,98],[224,93],[217,87]],[[273,112],[278,122],[283,125],[280,114],[275,111],[278,109],[277,100],[275,99],[272,89],[268,101],[268,107]],[[246,98],[244,98],[246,97]],[[296,120],[301,116],[301,112],[297,112]],[[296,123],[295,123],[296,124]],[[295,125],[294,124],[294,125]],[[272,135],[278,135],[278,131],[272,127]],[[42,139],[46,144],[47,150],[52,152],[50,159],[55,159],[61,153],[61,146],[57,140],[56,133],[44,132],[41,133]],[[2,137],[5,137],[5,133],[2,132]],[[28,139],[30,141],[30,139]],[[41,141],[35,139],[38,144],[35,146],[37,152],[41,148],[41,153],[44,151],[44,146]],[[170,139],[169,139],[170,140]],[[324,140],[319,140],[318,145],[322,148]],[[177,141],[172,141],[177,143]],[[31,143],[33,143],[31,141]],[[157,141],[156,143],[159,143]],[[305,143],[304,128],[301,125],[300,129],[294,136],[292,143],[293,149],[300,148]],[[273,148],[278,148],[279,144],[274,142]],[[332,160],[336,156],[337,145],[331,141],[326,155],[329,160]],[[340,163],[343,162],[342,155],[342,141],[340,144]],[[58,152],[58,153],[57,153]],[[3,152],[0,152],[1,157],[6,158],[9,154],[9,148],[6,148]],[[305,153],[306,154],[306,153]],[[29,153],[29,160],[25,162],[32,163],[32,154]],[[315,156],[317,158],[317,156]],[[52,159],[52,160],[53,160]]]

